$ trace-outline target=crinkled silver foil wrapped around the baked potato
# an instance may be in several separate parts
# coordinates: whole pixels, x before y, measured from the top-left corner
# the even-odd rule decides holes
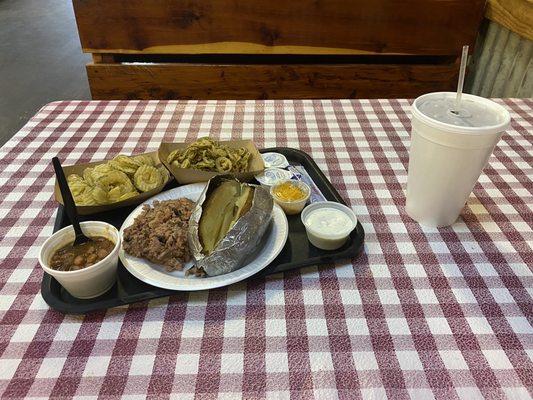
[[[237,220],[209,255],[203,254],[198,235],[202,205],[211,192],[228,179],[236,180],[231,175],[219,175],[207,183],[189,220],[188,239],[191,254],[196,267],[203,268],[209,276],[227,274],[242,267],[246,258],[258,249],[272,218],[274,201],[269,191],[262,186],[250,185],[255,189],[250,210]]]

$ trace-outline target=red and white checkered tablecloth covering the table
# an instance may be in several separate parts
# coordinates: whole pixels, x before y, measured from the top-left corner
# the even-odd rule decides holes
[[[409,101],[45,106],[0,149],[0,393],[18,397],[529,399],[533,101],[450,228],[404,211]],[[50,161],[252,138],[311,154],[366,231],[358,259],[67,316],[40,295]]]

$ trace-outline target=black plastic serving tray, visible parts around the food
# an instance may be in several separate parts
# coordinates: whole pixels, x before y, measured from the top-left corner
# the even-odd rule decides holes
[[[337,190],[329,182],[313,159],[301,150],[287,147],[274,147],[261,150],[265,152],[277,152],[285,155],[289,162],[302,165],[309,176],[313,179],[327,200],[346,204]],[[175,181],[170,182],[165,190],[178,186]],[[117,210],[107,211],[80,217],[82,220],[99,220],[108,222],[120,228],[122,222],[136,206],[124,207]],[[278,257],[265,269],[248,279],[258,279],[265,275],[289,271],[309,265],[331,263],[339,259],[353,258],[359,255],[363,248],[365,232],[358,222],[350,235],[350,240],[338,250],[320,250],[307,240],[305,227],[300,215],[287,216],[289,221],[289,237],[285,247]],[[59,205],[54,225],[54,232],[70,225],[70,221],[63,206]],[[63,287],[49,274],[45,273],[41,284],[41,293],[48,305],[66,314],[85,314],[91,311],[117,307],[137,301],[150,300],[158,297],[170,296],[175,291],[161,289],[144,283],[131,275],[120,263],[117,269],[117,282],[105,294],[94,299],[81,300],[72,297]]]

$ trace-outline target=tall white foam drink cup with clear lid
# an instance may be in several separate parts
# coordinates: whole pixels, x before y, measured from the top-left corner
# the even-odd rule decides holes
[[[422,225],[453,224],[472,192],[494,146],[510,122],[495,102],[456,93],[418,97],[412,106],[407,178],[407,214]]]

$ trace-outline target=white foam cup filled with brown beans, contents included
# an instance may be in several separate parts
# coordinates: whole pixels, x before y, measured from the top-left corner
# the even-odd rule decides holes
[[[115,283],[120,249],[118,230],[101,221],[82,222],[91,242],[73,246],[74,229],[67,226],[41,246],[39,263],[72,296],[90,299],[107,292]]]

